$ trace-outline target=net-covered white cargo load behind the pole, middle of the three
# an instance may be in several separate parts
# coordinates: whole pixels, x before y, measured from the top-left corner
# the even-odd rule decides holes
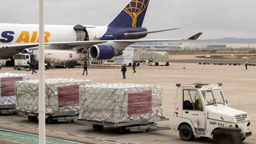
[[[79,110],[79,86],[86,84],[92,84],[92,81],[75,79],[45,80],[45,112]],[[15,93],[17,110],[38,113],[38,80],[16,82]]]

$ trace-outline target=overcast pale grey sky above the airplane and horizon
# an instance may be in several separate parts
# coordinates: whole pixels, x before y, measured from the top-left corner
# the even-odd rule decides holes
[[[39,0],[1,0],[0,23],[38,23]],[[130,0],[45,0],[45,23],[107,25]],[[147,39],[256,38],[256,0],[150,0],[143,27],[183,28]]]

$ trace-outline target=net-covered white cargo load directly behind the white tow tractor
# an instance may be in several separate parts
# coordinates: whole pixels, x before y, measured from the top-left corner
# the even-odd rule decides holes
[[[125,123],[164,116],[160,86],[93,84],[80,86],[79,95],[79,119]]]

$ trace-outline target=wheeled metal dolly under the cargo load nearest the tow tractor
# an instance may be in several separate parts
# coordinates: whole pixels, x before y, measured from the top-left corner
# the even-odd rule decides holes
[[[87,119],[78,119],[76,122],[78,123],[86,123],[91,124],[92,128],[95,131],[103,130],[104,126],[110,126],[118,128],[119,133],[124,134],[127,132],[146,132],[152,130],[171,130],[169,127],[160,127],[157,126],[155,122],[157,121],[169,121],[169,118],[148,118],[148,119],[139,119],[139,120],[131,120],[126,123],[107,123],[105,121],[90,121]]]

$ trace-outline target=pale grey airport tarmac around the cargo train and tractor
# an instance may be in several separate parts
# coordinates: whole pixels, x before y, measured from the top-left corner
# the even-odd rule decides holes
[[[122,79],[121,68],[88,67],[88,75],[82,76],[82,67],[71,69],[50,68],[46,70],[46,78],[73,78],[90,79],[94,83],[136,83],[154,84],[163,87],[163,107],[166,117],[173,114],[176,83],[188,84],[195,82],[223,83],[222,90],[228,100],[228,106],[249,112],[251,118],[252,136],[246,139],[244,144],[256,143],[256,67],[249,66],[245,70],[244,65],[199,65],[198,63],[171,63],[169,67],[154,67],[142,65],[137,67],[136,73],[132,73],[132,67],[128,67],[126,79]],[[25,70],[12,70],[12,67],[2,67],[0,73],[26,73]],[[32,75],[32,79],[38,79],[38,73]],[[159,126],[171,126],[171,121],[158,123]],[[3,115],[0,116],[0,128],[20,132],[37,133],[38,123],[30,122],[27,116]],[[115,128],[104,127],[103,131],[96,132],[91,125],[80,123],[47,124],[48,136],[69,139],[75,142],[91,141],[111,144],[213,144],[212,139],[196,137],[192,142],[182,141],[178,132],[157,130],[152,132],[131,132],[121,135]],[[75,136],[78,135],[78,136]],[[121,141],[118,141],[121,140]],[[2,142],[0,140],[0,142]]]

